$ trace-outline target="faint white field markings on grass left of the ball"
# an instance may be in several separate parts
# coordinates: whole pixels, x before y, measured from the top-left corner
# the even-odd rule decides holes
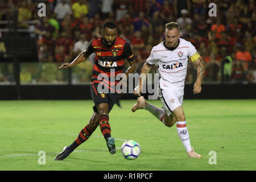
[[[56,135],[74,135],[78,136],[78,134],[72,134],[72,133],[43,133],[43,134],[56,134]],[[104,138],[103,136],[98,136],[98,135],[92,135],[91,137],[101,137]],[[120,139],[120,138],[115,138],[115,140],[120,140],[123,142],[126,142],[126,139]],[[116,149],[121,149],[121,147],[115,147]],[[75,150],[73,152],[92,152],[92,151],[102,151],[102,150],[108,150],[108,148],[99,148],[99,149],[94,149],[94,150]],[[48,152],[47,154],[59,154],[60,152]],[[16,155],[0,155],[0,158],[14,158],[14,157],[19,157],[19,156],[27,156],[27,155],[38,155],[38,154],[16,154]]]

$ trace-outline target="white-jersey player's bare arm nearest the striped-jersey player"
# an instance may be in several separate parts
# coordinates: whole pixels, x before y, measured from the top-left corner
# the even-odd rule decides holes
[[[151,67],[152,65],[147,64],[147,62],[143,65],[141,69],[141,75],[139,76],[139,84],[133,90],[133,94],[135,96],[141,96],[142,88],[143,88],[144,82],[146,81],[147,73],[150,72]]]

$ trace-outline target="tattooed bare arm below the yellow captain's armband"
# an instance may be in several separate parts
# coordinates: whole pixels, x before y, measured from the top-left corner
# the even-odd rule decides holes
[[[194,63],[196,63],[197,65],[197,78],[194,84],[193,93],[197,94],[200,93],[202,90],[201,83],[204,77],[204,60],[199,58]]]

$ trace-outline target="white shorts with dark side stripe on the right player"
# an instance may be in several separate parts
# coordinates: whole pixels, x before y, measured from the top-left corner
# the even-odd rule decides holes
[[[169,90],[160,89],[158,90],[158,96],[163,103],[163,107],[166,110],[168,116],[183,103],[183,90]]]

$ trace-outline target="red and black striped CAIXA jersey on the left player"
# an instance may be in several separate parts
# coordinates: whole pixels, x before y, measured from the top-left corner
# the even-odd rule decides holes
[[[123,73],[125,59],[133,61],[135,59],[130,45],[126,40],[117,37],[111,46],[104,46],[101,39],[93,39],[90,42],[86,53],[96,53],[93,64],[92,84],[100,83],[114,90],[115,85],[120,80],[115,80],[118,73]],[[108,78],[108,80],[106,79]]]

